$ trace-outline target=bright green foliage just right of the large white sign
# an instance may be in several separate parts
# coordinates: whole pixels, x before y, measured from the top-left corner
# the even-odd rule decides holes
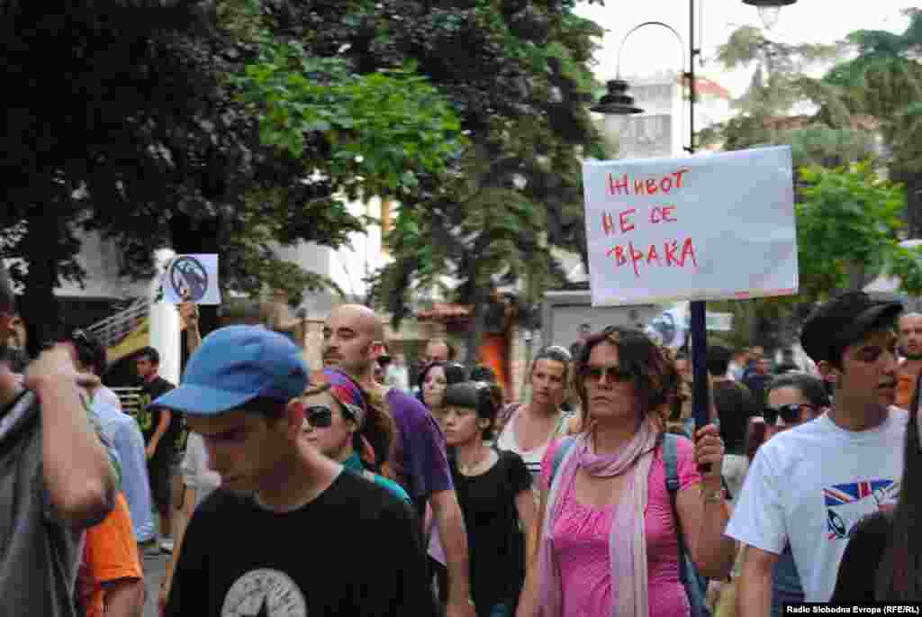
[[[869,163],[800,170],[797,204],[801,295],[861,289],[881,271],[899,272],[903,291],[922,292],[922,253],[904,248],[903,187],[881,180]],[[833,250],[831,250],[833,248]]]

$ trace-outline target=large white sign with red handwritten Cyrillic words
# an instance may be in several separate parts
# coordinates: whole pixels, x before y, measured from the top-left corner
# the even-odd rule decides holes
[[[798,291],[791,149],[583,163],[593,306]]]

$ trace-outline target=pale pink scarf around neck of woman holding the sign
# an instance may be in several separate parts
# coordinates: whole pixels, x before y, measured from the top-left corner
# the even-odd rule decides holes
[[[649,421],[641,423],[632,440],[609,456],[593,454],[589,433],[576,440],[561,461],[550,485],[547,514],[541,523],[538,546],[538,567],[541,581],[541,617],[561,617],[561,570],[554,554],[552,532],[563,509],[562,494],[576,479],[576,472],[585,469],[596,478],[614,478],[631,473],[626,499],[621,499],[609,535],[611,581],[617,584],[612,594],[612,617],[648,617],[646,533],[644,512],[647,502],[650,466],[656,447],[656,431]]]

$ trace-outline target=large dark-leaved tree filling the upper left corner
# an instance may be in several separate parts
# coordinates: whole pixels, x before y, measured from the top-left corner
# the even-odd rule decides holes
[[[164,6],[172,11],[189,3]],[[426,172],[452,149],[450,110],[419,79],[372,74],[359,80],[335,58],[316,59],[286,47],[290,39],[267,36],[267,29],[278,34],[290,27],[290,20],[280,25],[285,4],[257,6],[254,15],[253,3],[229,0],[199,20],[169,11],[167,19],[137,3],[119,11],[84,8],[49,16],[39,6],[7,6],[0,43],[10,89],[2,163],[10,190],[0,229],[5,255],[27,266],[16,274],[25,283],[21,304],[33,344],[47,338],[57,319],[59,280],[84,276],[75,259],[83,228],[119,242],[126,274],[149,276],[153,249],[162,245],[216,252],[230,289],[258,291],[268,282],[297,302],[305,289],[328,281],[280,262],[274,245],[345,243],[364,221],[349,215],[344,192],[390,183],[384,162]],[[326,17],[342,18],[342,10],[326,6]],[[282,66],[297,61],[313,65]],[[312,66],[317,70],[305,73]],[[280,77],[282,68],[287,73]],[[296,94],[314,97],[293,101],[294,111],[311,102],[316,110],[319,99],[336,94],[342,101],[331,106],[336,132],[293,125],[300,144],[292,135],[279,140],[272,123],[283,106],[257,95],[260,87],[278,88],[280,78]],[[320,85],[312,90],[308,79]],[[386,148],[395,150],[369,148],[364,165],[329,157],[380,128],[373,125],[383,115],[375,103],[388,91],[388,101],[403,95],[401,112],[429,105],[430,124],[384,135],[392,139]],[[364,130],[349,133],[347,122]],[[401,139],[409,133],[411,139]],[[410,160],[408,148],[419,156]],[[412,181],[412,173],[400,175],[401,184]]]

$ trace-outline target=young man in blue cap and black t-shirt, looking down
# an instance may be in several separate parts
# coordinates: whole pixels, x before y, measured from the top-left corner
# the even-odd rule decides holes
[[[221,476],[186,530],[167,615],[434,614],[412,511],[303,439],[307,374],[289,339],[224,327],[155,401],[185,414]],[[357,558],[372,547],[386,565]]]

